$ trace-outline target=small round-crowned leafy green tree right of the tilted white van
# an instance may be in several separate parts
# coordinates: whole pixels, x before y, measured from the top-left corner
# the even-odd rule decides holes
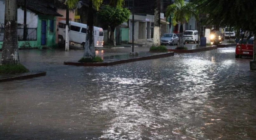
[[[127,8],[122,8],[120,6],[112,7],[109,5],[105,5],[100,12],[98,12],[98,16],[101,21],[104,21],[111,28],[111,40],[113,40],[113,46],[116,47],[116,40],[114,31],[115,28],[126,22],[129,19],[131,12]]]

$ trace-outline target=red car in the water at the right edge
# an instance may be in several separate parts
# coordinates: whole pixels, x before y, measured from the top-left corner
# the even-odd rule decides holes
[[[236,58],[253,57],[253,40],[253,37],[249,40],[239,40],[236,45]]]

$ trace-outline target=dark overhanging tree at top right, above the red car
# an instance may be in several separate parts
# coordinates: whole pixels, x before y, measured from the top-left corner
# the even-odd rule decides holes
[[[254,33],[253,61],[256,62],[256,1],[195,0],[197,8],[208,14],[206,21]]]

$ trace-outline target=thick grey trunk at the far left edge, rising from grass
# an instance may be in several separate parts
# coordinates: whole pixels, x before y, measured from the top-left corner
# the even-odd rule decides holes
[[[2,64],[19,63],[17,37],[17,0],[5,1]]]

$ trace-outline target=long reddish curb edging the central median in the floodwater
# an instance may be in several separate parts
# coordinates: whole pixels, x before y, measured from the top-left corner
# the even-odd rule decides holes
[[[163,54],[139,57],[139,58],[131,58],[131,59],[123,59],[118,61],[109,61],[109,62],[102,62],[102,63],[79,63],[79,62],[64,62],[64,65],[75,65],[75,66],[110,66],[122,63],[129,63],[134,61],[141,61],[141,60],[148,60],[148,59],[157,59],[157,58],[164,58],[174,56],[174,52],[167,52]]]

